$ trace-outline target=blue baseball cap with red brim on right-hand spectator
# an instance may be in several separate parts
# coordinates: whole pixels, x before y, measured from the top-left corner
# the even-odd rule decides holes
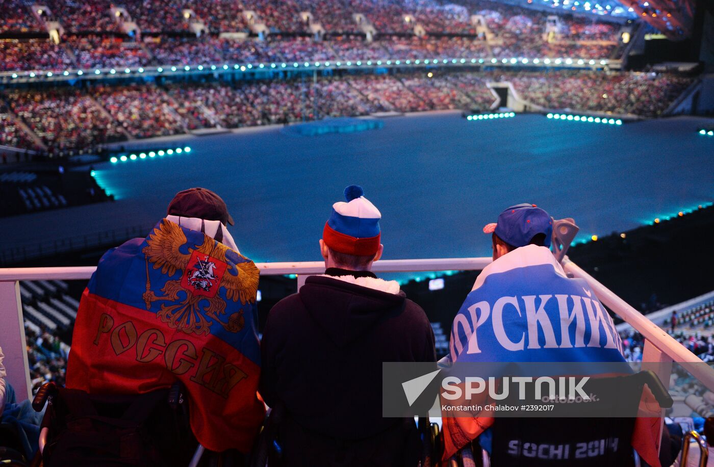
[[[498,216],[496,224],[483,227],[484,234],[498,235],[498,238],[511,246],[526,246],[531,238],[545,234],[543,246],[550,248],[550,237],[553,236],[553,219],[550,214],[535,204],[516,204],[503,211]]]

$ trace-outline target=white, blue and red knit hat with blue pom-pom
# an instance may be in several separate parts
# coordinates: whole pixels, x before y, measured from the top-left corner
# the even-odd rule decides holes
[[[339,253],[370,256],[379,250],[379,219],[382,215],[364,196],[361,186],[345,189],[347,202],[332,205],[332,215],[325,223],[322,239]]]

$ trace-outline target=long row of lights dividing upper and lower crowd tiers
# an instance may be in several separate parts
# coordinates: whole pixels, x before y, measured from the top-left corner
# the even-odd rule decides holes
[[[233,70],[240,70],[240,71],[247,71],[247,70],[254,70],[254,69],[287,69],[292,67],[293,69],[296,68],[310,68],[310,67],[315,67],[315,68],[320,68],[326,67],[329,68],[331,66],[381,66],[381,65],[438,65],[438,64],[448,64],[451,62],[451,64],[486,64],[486,63],[491,63],[491,64],[498,64],[499,62],[502,64],[545,64],[545,65],[550,65],[550,64],[555,64],[555,65],[561,65],[561,64],[566,64],[566,65],[572,65],[572,64],[578,64],[578,65],[595,65],[598,64],[598,61],[595,61],[595,59],[526,59],[526,58],[516,58],[513,57],[511,59],[416,59],[416,60],[366,60],[366,61],[316,61],[316,62],[293,62],[292,66],[287,63],[271,63],[271,64],[233,64],[232,68]],[[607,60],[600,60],[600,65],[606,65],[608,64]],[[180,71],[192,71],[192,70],[197,70],[197,71],[220,71],[223,69],[223,71],[227,71],[228,69],[231,69],[231,66],[228,64],[223,64],[223,65],[198,65],[198,66],[189,66],[189,65],[184,65],[184,66],[166,66],[164,68],[163,66],[157,66],[156,67],[156,72],[157,73],[164,73],[164,72],[180,72]],[[124,70],[117,70],[117,69],[109,69],[107,71],[104,69],[94,69],[92,70],[77,70],[77,71],[70,71],[70,70],[65,70],[62,71],[61,73],[58,71],[55,73],[54,71],[30,71],[28,74],[24,76],[29,76],[30,78],[36,78],[37,76],[47,76],[48,78],[51,78],[52,76],[55,75],[61,75],[61,76],[70,76],[71,74],[76,74],[77,76],[83,76],[84,74],[95,74],[95,75],[101,75],[101,74],[110,74],[110,75],[116,75],[119,74],[131,74],[131,73],[139,73],[139,74],[144,74],[145,71],[154,71],[154,69],[144,69],[144,67],[140,66],[139,68],[136,69],[131,69],[131,68],[125,68]],[[12,78],[19,78],[19,74],[13,73],[11,74]]]

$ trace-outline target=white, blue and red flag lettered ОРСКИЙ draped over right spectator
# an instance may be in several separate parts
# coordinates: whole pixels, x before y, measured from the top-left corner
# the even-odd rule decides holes
[[[548,248],[529,245],[478,275],[453,320],[448,360],[624,362],[622,350],[612,319],[588,283],[568,278]],[[645,420],[638,418],[638,426]],[[492,423],[490,417],[444,418],[444,458]],[[645,431],[642,436],[635,428],[633,446],[655,466],[658,449],[650,446],[658,448],[659,438]]]

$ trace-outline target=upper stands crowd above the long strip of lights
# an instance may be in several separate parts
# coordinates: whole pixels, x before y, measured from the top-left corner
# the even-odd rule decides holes
[[[0,31],[21,33],[38,22],[29,4],[2,0]],[[52,0],[49,12],[64,28],[61,45],[49,41],[0,42],[0,71],[55,71],[72,68],[110,68],[146,64],[200,61],[316,61],[366,59],[424,59],[433,55],[448,58],[511,58],[571,56],[608,58],[617,44],[618,26],[575,16],[558,16],[560,31],[546,38],[541,11],[488,0],[464,0],[462,5],[441,5],[432,0],[250,0],[243,6],[229,0],[129,0],[124,8],[139,25],[141,33],[125,35],[126,19],[108,0],[81,2]],[[242,8],[242,9],[241,9]],[[252,11],[249,19],[243,12]],[[325,41],[314,41],[310,19],[326,28]],[[363,34],[353,14],[376,28],[376,42],[343,37]],[[481,14],[495,34],[487,44],[483,33],[476,35],[471,14]],[[47,16],[44,16],[47,17]],[[358,16],[361,17],[361,16]],[[20,21],[22,20],[22,21]],[[193,21],[203,23],[207,34],[196,37]],[[221,32],[246,32],[251,22],[264,21],[271,40],[235,41],[219,38]],[[427,36],[414,36],[415,24]],[[38,24],[39,26],[39,24]],[[298,36],[296,36],[296,34]],[[303,35],[303,36],[301,36]],[[192,39],[188,39],[192,36]],[[410,37],[411,36],[411,37]],[[11,37],[11,36],[10,36]],[[19,39],[20,36],[18,36]],[[546,40],[547,39],[547,40]],[[141,43],[149,46],[147,54]],[[66,48],[66,49],[65,49]]]

